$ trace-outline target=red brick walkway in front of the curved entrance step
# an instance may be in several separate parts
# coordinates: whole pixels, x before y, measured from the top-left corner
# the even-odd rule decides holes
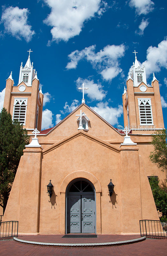
[[[166,256],[167,240],[146,239],[136,244],[103,248],[53,248],[0,241],[1,256]]]

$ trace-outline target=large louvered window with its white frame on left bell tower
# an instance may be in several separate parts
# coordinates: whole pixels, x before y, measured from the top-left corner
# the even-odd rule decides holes
[[[20,124],[25,125],[26,118],[26,109],[27,109],[27,98],[18,98],[14,100],[13,108],[13,121],[18,120]]]

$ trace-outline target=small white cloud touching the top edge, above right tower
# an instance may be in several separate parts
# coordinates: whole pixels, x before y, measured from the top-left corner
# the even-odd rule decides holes
[[[130,0],[129,6],[134,7],[138,15],[148,14],[154,9],[154,2],[151,0]]]

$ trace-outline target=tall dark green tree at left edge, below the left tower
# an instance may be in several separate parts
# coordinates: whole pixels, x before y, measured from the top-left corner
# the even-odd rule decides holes
[[[29,144],[27,131],[5,108],[0,112],[0,205],[5,211],[11,186],[25,145]]]

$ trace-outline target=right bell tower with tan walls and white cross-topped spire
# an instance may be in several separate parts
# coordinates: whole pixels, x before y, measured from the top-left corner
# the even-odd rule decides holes
[[[159,81],[153,73],[151,85],[146,81],[145,66],[140,66],[135,53],[135,62],[128,74],[127,90],[122,95],[124,126],[132,130],[164,128]]]

